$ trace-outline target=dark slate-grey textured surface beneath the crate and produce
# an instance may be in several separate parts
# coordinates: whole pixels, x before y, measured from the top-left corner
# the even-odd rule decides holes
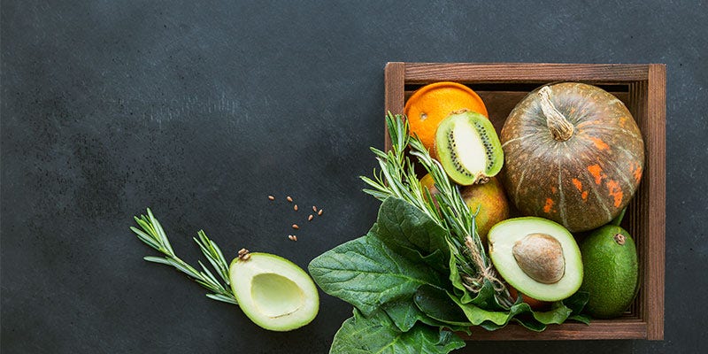
[[[326,352],[350,305],[267,332],[142,261],[128,227],[150,206],[189,262],[204,228],[300,266],[363,235],[387,61],[666,63],[666,340],[459,352],[708,345],[706,2],[313,3],[3,1],[3,353]],[[325,209],[299,242],[286,194]]]

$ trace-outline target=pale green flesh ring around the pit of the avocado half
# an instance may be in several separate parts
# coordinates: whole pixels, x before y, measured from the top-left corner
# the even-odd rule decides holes
[[[558,281],[536,281],[519,266],[513,248],[527,235],[550,235],[560,243],[565,269]],[[565,227],[549,219],[524,217],[507,219],[492,227],[488,235],[489,258],[496,271],[519,292],[542,301],[558,301],[575,293],[582,283],[582,259],[578,244]]]

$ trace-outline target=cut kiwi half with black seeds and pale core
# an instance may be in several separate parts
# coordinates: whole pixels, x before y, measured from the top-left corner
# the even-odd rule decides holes
[[[437,158],[452,181],[463,186],[485,183],[504,165],[504,150],[487,117],[453,112],[435,132]]]

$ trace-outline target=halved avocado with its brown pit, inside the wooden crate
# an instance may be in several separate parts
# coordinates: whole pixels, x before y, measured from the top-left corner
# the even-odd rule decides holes
[[[496,271],[521,293],[542,301],[571,296],[582,283],[582,258],[573,235],[549,219],[507,219],[489,230]]]

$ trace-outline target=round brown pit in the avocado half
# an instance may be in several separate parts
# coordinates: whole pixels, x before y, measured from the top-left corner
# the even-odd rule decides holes
[[[556,283],[566,273],[563,247],[551,235],[528,234],[514,242],[512,254],[524,273],[543,284]]]

